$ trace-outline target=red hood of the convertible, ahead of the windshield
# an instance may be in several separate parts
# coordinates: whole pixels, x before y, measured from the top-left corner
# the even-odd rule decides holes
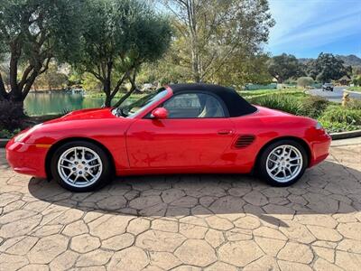
[[[46,124],[56,123],[60,121],[100,119],[100,118],[116,118],[116,116],[113,115],[111,108],[81,109],[81,110],[72,111],[63,117],[48,121],[46,122]]]

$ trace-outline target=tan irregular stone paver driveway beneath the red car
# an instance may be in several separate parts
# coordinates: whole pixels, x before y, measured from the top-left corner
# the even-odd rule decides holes
[[[361,145],[331,153],[289,188],[171,175],[91,193],[2,158],[0,270],[360,270]]]

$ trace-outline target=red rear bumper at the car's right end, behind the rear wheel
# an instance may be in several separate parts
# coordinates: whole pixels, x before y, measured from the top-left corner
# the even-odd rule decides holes
[[[331,136],[325,133],[318,136],[318,140],[310,143],[311,159],[309,167],[319,164],[329,156],[329,146],[331,145]]]

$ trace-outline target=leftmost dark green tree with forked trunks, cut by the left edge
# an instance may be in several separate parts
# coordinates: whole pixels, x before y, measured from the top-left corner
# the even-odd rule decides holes
[[[0,100],[23,107],[35,79],[52,58],[74,58],[79,42],[81,0],[2,0],[0,56],[9,62],[10,89],[0,72]],[[71,31],[69,31],[71,30]]]

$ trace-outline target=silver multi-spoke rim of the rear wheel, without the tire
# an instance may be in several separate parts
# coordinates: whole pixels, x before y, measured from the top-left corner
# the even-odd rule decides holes
[[[276,182],[290,182],[298,176],[303,165],[300,150],[292,145],[279,145],[268,154],[266,169]]]

